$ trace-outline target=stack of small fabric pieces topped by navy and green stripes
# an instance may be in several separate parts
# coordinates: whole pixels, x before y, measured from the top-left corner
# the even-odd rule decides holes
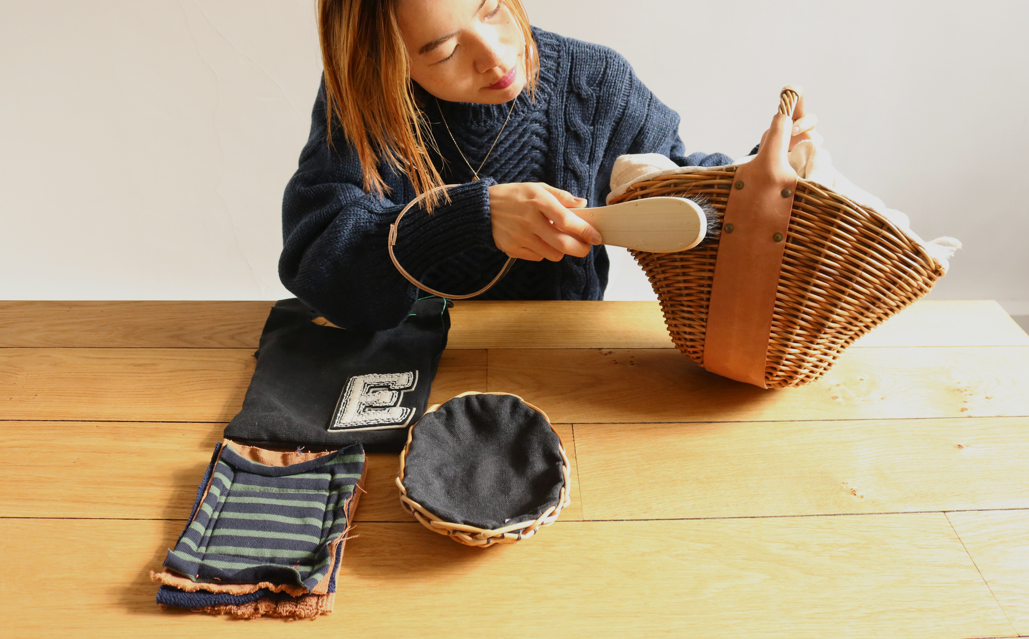
[[[150,573],[157,603],[243,618],[331,612],[363,483],[360,445],[301,453],[225,439],[164,570]]]

